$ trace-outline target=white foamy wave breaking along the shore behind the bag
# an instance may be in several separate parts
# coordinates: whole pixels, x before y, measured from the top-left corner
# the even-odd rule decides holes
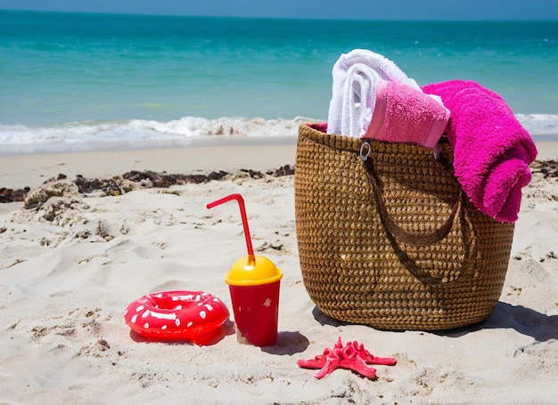
[[[536,142],[558,141],[558,115],[518,114],[516,117]],[[168,122],[132,119],[52,126],[3,125],[0,126],[0,154],[176,148],[200,139],[294,140],[300,124],[316,121],[319,120],[308,117],[182,117]]]

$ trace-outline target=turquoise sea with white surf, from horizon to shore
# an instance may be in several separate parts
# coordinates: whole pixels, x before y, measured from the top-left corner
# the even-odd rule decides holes
[[[274,128],[297,117],[327,118],[332,66],[355,48],[382,53],[419,85],[475,80],[500,93],[534,137],[558,136],[558,21],[0,10],[0,153],[280,136]]]

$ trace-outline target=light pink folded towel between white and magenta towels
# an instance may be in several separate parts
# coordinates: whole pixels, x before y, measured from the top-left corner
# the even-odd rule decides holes
[[[434,149],[448,119],[449,109],[431,95],[403,83],[378,80],[372,121],[363,138]]]

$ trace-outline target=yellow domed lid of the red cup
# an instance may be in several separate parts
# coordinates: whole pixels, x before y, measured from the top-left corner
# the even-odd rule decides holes
[[[251,263],[250,263],[251,262]],[[267,257],[254,255],[254,261],[245,255],[238,259],[226,273],[225,282],[229,286],[250,287],[270,284],[283,277],[281,269]]]

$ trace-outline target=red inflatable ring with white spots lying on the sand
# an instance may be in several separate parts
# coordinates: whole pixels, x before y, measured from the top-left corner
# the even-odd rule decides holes
[[[164,291],[129,304],[124,320],[148,340],[196,343],[228,319],[226,305],[201,291]]]

